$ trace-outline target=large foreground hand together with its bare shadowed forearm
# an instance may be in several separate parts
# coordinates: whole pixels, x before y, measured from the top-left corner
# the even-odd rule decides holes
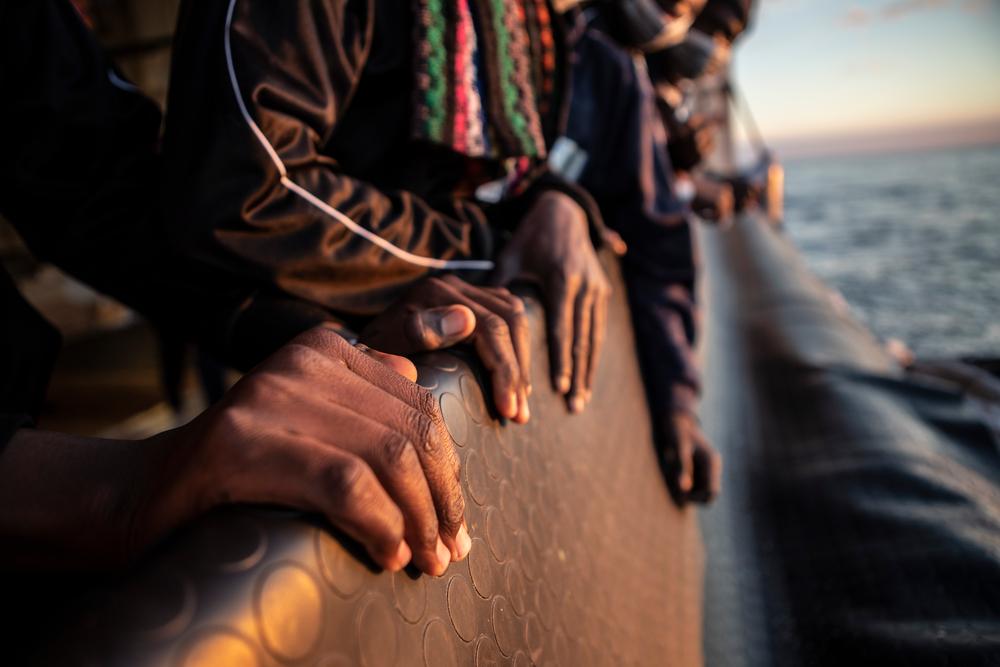
[[[275,503],[323,514],[386,569],[412,558],[440,576],[471,541],[458,457],[415,380],[408,360],[320,327],[153,438],[22,429],[0,466],[0,560],[113,565],[218,505]]]

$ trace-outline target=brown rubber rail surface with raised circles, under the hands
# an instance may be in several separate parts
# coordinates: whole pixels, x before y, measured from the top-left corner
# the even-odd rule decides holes
[[[548,389],[537,307],[525,426],[491,417],[457,356],[420,365],[461,457],[473,538],[444,577],[373,572],[294,513],[220,512],[77,618],[59,664],[700,665],[697,521],[662,482],[617,284],[583,415]]]

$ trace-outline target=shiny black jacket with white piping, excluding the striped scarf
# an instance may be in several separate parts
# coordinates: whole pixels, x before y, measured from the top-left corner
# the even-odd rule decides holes
[[[589,199],[544,165],[521,196],[488,206],[474,192],[503,165],[411,139],[411,12],[406,0],[182,5],[164,140],[177,247],[360,316],[435,269],[362,238],[324,205],[402,252],[444,261],[488,260],[497,231],[541,189],[569,192],[596,223]]]

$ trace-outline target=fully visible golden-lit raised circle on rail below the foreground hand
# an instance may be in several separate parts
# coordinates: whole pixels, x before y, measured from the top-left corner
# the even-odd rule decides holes
[[[294,600],[294,604],[289,604]],[[261,578],[254,599],[264,645],[281,660],[301,660],[319,640],[323,598],[312,576],[294,564],[279,564]]]

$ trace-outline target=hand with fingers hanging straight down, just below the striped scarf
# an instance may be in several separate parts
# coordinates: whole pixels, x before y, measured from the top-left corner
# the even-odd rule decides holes
[[[590,241],[587,216],[567,195],[541,195],[500,254],[495,283],[517,278],[541,287],[552,384],[573,412],[581,412],[590,400],[611,286]]]

